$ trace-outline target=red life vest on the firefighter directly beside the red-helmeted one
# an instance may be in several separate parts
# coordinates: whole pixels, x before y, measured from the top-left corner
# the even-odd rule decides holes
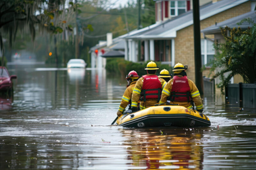
[[[162,84],[158,80],[156,75],[144,75],[143,85],[141,89],[142,99],[161,99],[162,94]]]

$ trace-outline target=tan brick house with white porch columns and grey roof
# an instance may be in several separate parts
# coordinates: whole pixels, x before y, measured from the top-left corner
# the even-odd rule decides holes
[[[173,2],[176,10],[174,13],[172,10]],[[179,10],[180,2],[181,0],[156,1],[156,23],[158,25],[124,37],[127,45],[124,51],[125,59],[132,62],[160,61],[171,66],[179,62],[188,65],[187,75],[192,81],[195,81],[193,11],[189,10],[188,1],[183,1],[185,2],[185,12],[183,10],[181,12],[184,13],[172,17],[172,14],[179,14],[177,10]],[[159,3],[160,7],[158,7]],[[256,1],[254,0],[215,0],[204,4],[200,7],[200,28],[202,30],[215,23],[253,11],[255,4]],[[165,15],[166,13],[167,15]],[[163,17],[159,18],[159,15]],[[167,17],[164,18],[164,16]],[[203,64],[207,64],[213,59],[215,54],[212,46],[213,38],[212,35],[205,39],[201,33]],[[138,42],[141,42],[141,56],[136,57]],[[203,76],[208,76],[208,74],[209,68],[203,71]]]

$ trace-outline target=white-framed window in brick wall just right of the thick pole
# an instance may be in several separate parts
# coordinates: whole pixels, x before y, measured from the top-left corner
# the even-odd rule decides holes
[[[202,66],[210,63],[214,59],[215,50],[213,48],[213,43],[210,40],[202,39],[201,40],[201,57],[202,57]]]

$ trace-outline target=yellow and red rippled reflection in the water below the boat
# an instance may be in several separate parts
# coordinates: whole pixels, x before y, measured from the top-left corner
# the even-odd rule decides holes
[[[142,169],[202,169],[202,129],[120,129],[128,160]],[[146,167],[146,168],[143,168]]]

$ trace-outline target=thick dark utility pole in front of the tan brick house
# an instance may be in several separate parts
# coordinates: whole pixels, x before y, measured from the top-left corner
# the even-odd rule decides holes
[[[199,0],[193,0],[193,20],[194,20],[194,55],[195,55],[195,77],[196,87],[201,95],[204,94],[203,74],[201,72],[201,33]]]

